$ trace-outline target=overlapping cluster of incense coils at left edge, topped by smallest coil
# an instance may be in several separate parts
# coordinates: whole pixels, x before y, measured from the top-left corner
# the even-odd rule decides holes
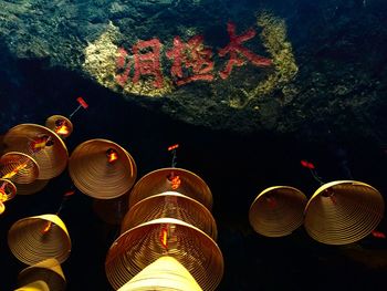
[[[17,194],[35,194],[64,172],[69,153],[63,138],[72,131],[66,117],[53,115],[45,126],[19,124],[7,132],[0,157],[0,214]]]

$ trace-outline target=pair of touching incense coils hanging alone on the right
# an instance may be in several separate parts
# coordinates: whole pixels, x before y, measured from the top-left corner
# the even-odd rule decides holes
[[[384,210],[383,196],[370,185],[337,180],[322,185],[310,199],[293,187],[270,187],[251,204],[249,220],[266,237],[287,236],[304,225],[320,242],[346,245],[368,236]]]

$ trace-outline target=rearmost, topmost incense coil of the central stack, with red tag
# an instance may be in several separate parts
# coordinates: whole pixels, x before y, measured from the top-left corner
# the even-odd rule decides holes
[[[130,191],[129,208],[146,197],[165,191],[180,193],[209,210],[212,208],[212,194],[207,184],[196,174],[182,168],[161,168],[145,175]]]

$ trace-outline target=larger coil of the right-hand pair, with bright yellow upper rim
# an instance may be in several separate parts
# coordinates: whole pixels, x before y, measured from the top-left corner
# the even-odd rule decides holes
[[[305,207],[304,226],[315,240],[346,245],[368,236],[385,210],[374,187],[355,180],[337,180],[321,186]]]

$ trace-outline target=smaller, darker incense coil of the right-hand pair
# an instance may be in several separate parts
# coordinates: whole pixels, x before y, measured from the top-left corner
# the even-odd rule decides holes
[[[250,225],[265,237],[287,236],[303,224],[306,200],[306,196],[296,188],[270,187],[251,204]]]

